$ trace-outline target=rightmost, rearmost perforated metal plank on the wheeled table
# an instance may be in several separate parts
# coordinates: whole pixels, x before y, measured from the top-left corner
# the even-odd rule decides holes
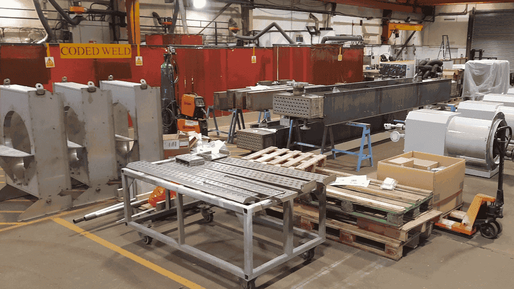
[[[238,167],[244,167],[248,169],[260,170],[270,172],[271,174],[277,174],[280,176],[285,176],[289,178],[295,178],[305,181],[316,181],[322,184],[329,184],[336,180],[335,175],[333,176],[325,176],[320,174],[314,174],[314,172],[308,172],[303,170],[290,169],[285,167],[278,167],[268,164],[261,164],[256,162],[248,162],[245,160],[227,158],[223,160],[217,160],[216,163],[224,163]]]

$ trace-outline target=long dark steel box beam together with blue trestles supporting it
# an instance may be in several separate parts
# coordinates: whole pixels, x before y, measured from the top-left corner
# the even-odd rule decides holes
[[[331,151],[333,156],[337,152],[356,155],[359,157],[359,170],[363,160],[372,159],[371,131],[369,124],[355,121],[448,100],[450,85],[449,79],[417,82],[413,78],[307,88],[298,83],[293,86],[295,88],[292,93],[273,95],[273,113],[284,115],[284,122],[289,122],[288,148],[290,145],[300,145],[318,148],[320,153]],[[317,123],[323,128],[320,145],[292,138],[293,128],[308,130]],[[333,127],[338,125],[361,129],[359,152],[335,148],[335,139],[339,136],[333,133]],[[300,129],[297,130],[297,136],[301,135]],[[319,136],[320,132],[313,133]],[[343,132],[339,130],[338,134]],[[327,137],[331,141],[331,148],[328,149],[325,144]],[[367,142],[365,138],[368,138]],[[363,152],[366,144],[370,151],[367,155]]]

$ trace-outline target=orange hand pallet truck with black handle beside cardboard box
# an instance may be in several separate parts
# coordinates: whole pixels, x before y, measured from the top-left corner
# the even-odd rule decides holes
[[[509,126],[499,127],[494,132],[493,152],[500,156],[496,198],[477,194],[468,211],[454,210],[440,223],[435,223],[436,226],[470,236],[480,230],[480,234],[488,239],[494,239],[502,232],[502,225],[496,219],[503,218],[503,164],[511,138],[512,128]]]

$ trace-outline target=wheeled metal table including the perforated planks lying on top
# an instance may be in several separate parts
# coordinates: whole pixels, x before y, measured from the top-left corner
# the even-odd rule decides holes
[[[314,248],[325,241],[326,185],[335,181],[334,176],[324,176],[290,168],[254,163],[235,158],[222,158],[214,161],[198,162],[187,155],[154,163],[139,161],[122,169],[122,184],[125,200],[126,225],[145,236],[146,243],[152,239],[171,245],[182,252],[230,272],[243,281],[243,287],[255,286],[255,279],[288,260],[297,256],[304,259],[314,257]],[[133,218],[130,204],[130,186],[135,180],[166,189],[166,208],[147,216]],[[176,199],[170,199],[170,190],[176,192]],[[319,200],[318,233],[293,227],[293,199],[315,194]],[[185,243],[184,198],[200,201],[199,208],[208,221],[212,221],[215,206],[242,215],[244,239],[244,265],[238,267],[225,260],[203,252]],[[174,204],[172,204],[172,201]],[[192,202],[191,202],[192,203]],[[271,206],[282,205],[283,220],[266,216],[256,216]],[[178,222],[178,238],[175,240],[142,224],[153,216],[162,217],[167,212],[175,213]],[[260,223],[283,230],[283,252],[278,257],[253,267],[253,224]],[[293,244],[293,235],[298,235],[300,244]]]

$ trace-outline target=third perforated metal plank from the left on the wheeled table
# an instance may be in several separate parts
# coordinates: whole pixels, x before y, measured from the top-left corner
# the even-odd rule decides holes
[[[203,167],[215,171],[224,172],[225,174],[243,177],[246,179],[272,184],[274,186],[284,187],[301,192],[309,192],[316,187],[316,184],[313,181],[305,181],[300,179],[288,178],[280,175],[273,175],[265,171],[252,170],[224,163],[208,162],[204,164]]]

